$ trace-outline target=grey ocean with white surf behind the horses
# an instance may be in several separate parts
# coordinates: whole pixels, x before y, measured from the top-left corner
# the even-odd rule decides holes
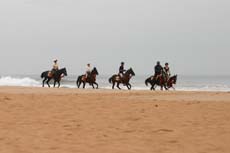
[[[100,89],[111,89],[111,84],[108,82],[110,76],[97,76],[97,83]],[[133,90],[149,90],[150,86],[145,85],[145,79],[149,76],[137,75],[134,76],[130,83]],[[68,75],[61,81],[61,88],[77,88],[77,75]],[[50,82],[52,85],[52,81]],[[1,76],[0,86],[25,86],[25,87],[41,87],[42,79],[39,75],[12,75]],[[46,86],[47,87],[47,86]],[[120,85],[122,89],[127,89]],[[86,88],[92,88],[88,84]],[[186,76],[178,75],[177,84],[175,85],[178,91],[230,91],[230,76]],[[160,90],[157,87],[156,90]],[[172,90],[172,89],[171,89]]]

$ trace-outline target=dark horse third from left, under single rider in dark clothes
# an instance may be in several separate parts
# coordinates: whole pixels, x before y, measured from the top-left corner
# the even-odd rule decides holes
[[[135,76],[135,73],[133,72],[133,69],[130,68],[125,72],[125,74],[123,74],[122,77],[118,74],[114,74],[111,78],[109,78],[109,83],[112,83],[112,89],[114,89],[116,83],[117,83],[117,88],[121,89],[119,85],[120,83],[122,83],[128,88],[128,90],[130,90],[132,86],[129,83],[129,81],[132,78],[132,76]]]

